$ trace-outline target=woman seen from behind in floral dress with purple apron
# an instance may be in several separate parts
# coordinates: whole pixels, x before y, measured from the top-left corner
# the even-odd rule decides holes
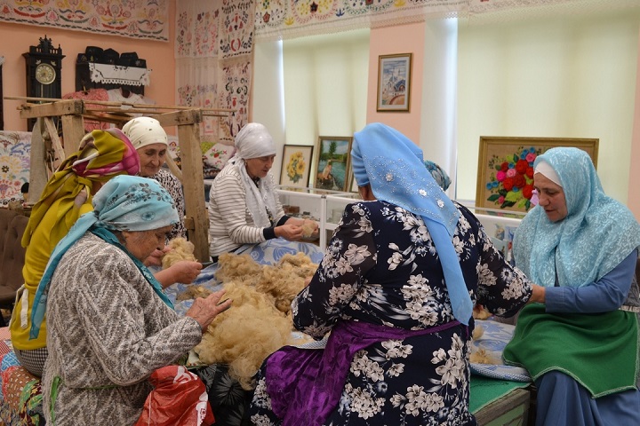
[[[265,362],[254,424],[476,424],[468,411],[472,307],[513,315],[532,283],[468,209],[447,198],[420,148],[381,123],[356,132],[349,204],[324,259],[292,303],[323,350]]]

